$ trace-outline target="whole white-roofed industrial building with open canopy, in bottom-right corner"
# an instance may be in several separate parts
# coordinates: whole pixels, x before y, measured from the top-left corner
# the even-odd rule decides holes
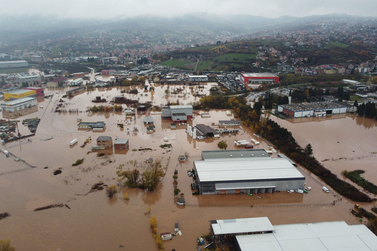
[[[272,225],[267,217],[210,220],[216,248],[236,251],[377,250],[377,236],[364,224],[344,221]]]

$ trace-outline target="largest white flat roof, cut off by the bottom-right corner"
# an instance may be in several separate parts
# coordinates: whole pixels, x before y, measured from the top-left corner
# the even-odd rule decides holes
[[[272,233],[236,236],[241,251],[377,250],[377,236],[365,225],[344,221],[274,225]]]

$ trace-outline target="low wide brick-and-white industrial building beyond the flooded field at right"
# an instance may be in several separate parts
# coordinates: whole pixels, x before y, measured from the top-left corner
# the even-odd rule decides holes
[[[329,114],[346,113],[347,106],[345,104],[337,104],[331,101],[320,101],[301,104],[286,104],[277,106],[279,112],[283,112],[293,118],[305,116],[322,117]]]

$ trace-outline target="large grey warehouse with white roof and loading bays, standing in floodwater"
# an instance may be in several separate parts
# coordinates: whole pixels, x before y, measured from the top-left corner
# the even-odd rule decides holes
[[[202,151],[193,169],[200,194],[273,193],[305,185],[288,159],[273,159],[264,149]]]

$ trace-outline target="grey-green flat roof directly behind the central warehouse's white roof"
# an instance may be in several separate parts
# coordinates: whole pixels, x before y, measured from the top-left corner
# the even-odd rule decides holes
[[[208,150],[208,151],[202,151],[202,155],[204,156],[204,159],[230,159],[230,158],[268,158],[268,159],[271,159],[271,156],[264,149]]]

